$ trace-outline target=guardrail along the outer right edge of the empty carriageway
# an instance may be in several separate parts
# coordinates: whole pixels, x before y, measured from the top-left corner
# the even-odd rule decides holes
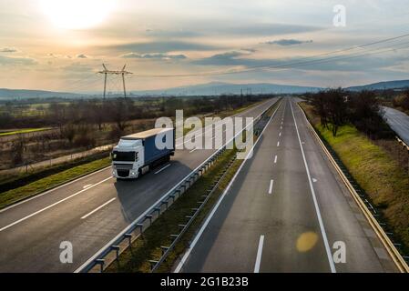
[[[401,273],[409,273],[409,266],[406,263],[407,256],[403,256],[396,246],[400,246],[399,244],[394,244],[389,236],[393,236],[392,233],[385,232],[382,226],[386,226],[384,223],[379,222],[375,217],[379,217],[376,209],[372,206],[372,204],[368,201],[367,196],[363,193],[363,190],[360,186],[354,181],[353,177],[349,174],[348,170],[343,166],[342,161],[338,158],[335,152],[332,150],[330,146],[326,146],[322,141],[322,138],[317,133],[315,128],[312,126],[310,120],[308,119],[307,115],[305,115],[304,110],[299,105],[302,114],[304,115],[305,119],[307,120],[308,127],[312,131],[312,135],[315,136],[320,146],[322,146],[322,150],[324,151],[325,155],[328,156],[332,166],[337,171],[338,175],[343,180],[343,183],[353,196],[356,204],[360,207],[363,215],[365,216],[366,220],[373,228],[376,236],[379,237],[383,246],[385,247],[386,251],[389,253],[389,256],[394,261],[395,266],[399,269]]]

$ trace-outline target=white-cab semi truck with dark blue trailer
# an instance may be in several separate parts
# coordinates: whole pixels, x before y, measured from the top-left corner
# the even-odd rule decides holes
[[[175,155],[175,129],[155,128],[120,138],[112,157],[112,174],[117,179],[136,179]]]

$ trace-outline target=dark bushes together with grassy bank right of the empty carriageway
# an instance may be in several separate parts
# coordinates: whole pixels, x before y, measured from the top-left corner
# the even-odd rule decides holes
[[[407,166],[407,154],[400,152],[402,148],[379,115],[379,102],[371,92],[348,95],[341,89],[335,91],[310,95],[309,102],[302,103],[302,108],[373,205],[381,211],[391,232],[402,242],[407,253],[409,175],[402,163],[402,157],[406,158]],[[331,109],[322,111],[322,106],[333,102],[333,98],[338,98],[337,105],[343,106],[341,110],[333,109],[338,114],[343,113],[339,119],[331,116]]]

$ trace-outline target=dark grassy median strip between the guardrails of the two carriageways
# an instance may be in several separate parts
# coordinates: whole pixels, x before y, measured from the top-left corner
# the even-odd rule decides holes
[[[206,194],[210,185],[215,181],[220,171],[227,166],[228,162],[235,155],[235,151],[227,151],[220,160],[212,166],[209,172],[201,176],[199,180],[191,186],[187,192],[181,196],[169,209],[164,212],[143,234],[143,238],[138,238],[131,248],[124,251],[119,257],[119,262],[114,262],[108,266],[106,272],[121,273],[149,273],[149,259],[158,259],[160,256],[160,246],[169,246],[170,235],[179,233],[178,225],[186,223],[185,216],[192,214],[191,208],[197,207],[197,202],[203,200],[202,195]],[[219,198],[223,189],[228,185],[231,177],[237,171],[242,161],[235,161],[230,167],[228,175],[225,176],[216,192],[210,197],[208,203],[200,211],[199,216],[193,224],[189,226],[188,231],[181,237],[175,249],[170,253],[168,259],[162,264],[158,272],[169,272],[174,265],[176,258],[181,255],[187,246],[189,240],[194,236],[203,219],[210,212],[211,207]]]

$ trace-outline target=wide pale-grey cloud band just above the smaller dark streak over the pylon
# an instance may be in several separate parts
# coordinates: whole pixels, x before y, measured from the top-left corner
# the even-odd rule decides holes
[[[140,52],[142,54],[169,53],[174,51],[209,51],[220,48],[215,45],[203,45],[183,41],[152,41],[145,43],[128,43],[124,45],[106,46],[109,50],[118,52]]]

